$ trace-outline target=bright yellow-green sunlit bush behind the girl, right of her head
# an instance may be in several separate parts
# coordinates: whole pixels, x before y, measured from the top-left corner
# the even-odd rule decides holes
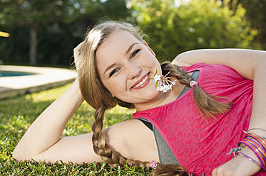
[[[215,0],[135,1],[137,23],[148,34],[157,55],[173,60],[175,55],[199,48],[252,48],[257,31],[250,28],[245,9],[235,11]],[[165,60],[160,58],[161,61]]]

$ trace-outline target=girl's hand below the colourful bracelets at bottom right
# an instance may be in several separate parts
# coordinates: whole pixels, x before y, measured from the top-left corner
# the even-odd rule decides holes
[[[242,148],[241,153],[250,156],[252,159],[258,161],[255,153],[250,150],[250,148]],[[258,161],[260,163],[260,161]],[[213,170],[213,176],[250,176],[257,173],[261,167],[243,157],[242,155],[237,155],[232,160],[227,163],[220,165]]]

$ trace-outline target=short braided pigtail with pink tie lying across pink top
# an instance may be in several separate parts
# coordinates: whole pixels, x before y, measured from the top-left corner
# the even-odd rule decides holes
[[[164,62],[162,65],[163,74],[170,71],[171,77],[176,77],[179,80],[180,84],[185,84],[188,87],[190,82],[193,81],[192,77],[185,72],[178,65],[173,65],[170,62]],[[211,94],[208,94],[203,89],[200,88],[197,84],[193,86],[193,98],[195,104],[197,105],[200,113],[203,115],[203,118],[208,120],[210,117],[215,117],[216,114],[225,113],[231,105],[231,102],[222,103],[217,101],[219,99],[226,99],[225,97],[218,97]]]

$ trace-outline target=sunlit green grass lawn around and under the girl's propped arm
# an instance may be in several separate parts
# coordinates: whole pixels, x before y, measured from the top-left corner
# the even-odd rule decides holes
[[[16,162],[12,152],[19,143],[31,123],[46,107],[58,98],[68,87],[66,86],[28,94],[21,97],[0,100],[0,175],[150,175],[151,170],[128,167],[124,170],[112,168],[106,163],[68,165],[58,163],[46,165],[33,161]],[[104,128],[131,119],[133,111],[116,107],[106,113]],[[91,132],[93,109],[83,103],[63,131],[63,136],[73,136]]]

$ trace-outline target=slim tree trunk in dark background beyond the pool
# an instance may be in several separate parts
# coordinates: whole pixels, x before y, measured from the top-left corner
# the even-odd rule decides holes
[[[38,45],[37,28],[38,26],[36,23],[33,23],[31,25],[31,31],[30,31],[31,39],[29,43],[29,62],[30,65],[32,66],[37,65],[37,45]]]

